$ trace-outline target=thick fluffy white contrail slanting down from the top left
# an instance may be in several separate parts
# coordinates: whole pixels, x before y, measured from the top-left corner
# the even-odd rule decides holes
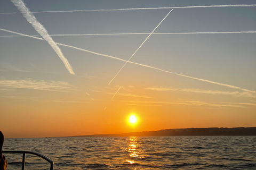
[[[69,64],[67,58],[62,54],[58,45],[53,41],[52,37],[49,36],[47,30],[44,26],[37,21],[34,14],[31,13],[22,0],[11,0],[11,2],[20,10],[22,15],[27,19],[27,21],[34,27],[34,29],[49,43],[53,48],[55,53],[60,57],[62,62],[65,64],[70,74],[75,74],[71,65]]]

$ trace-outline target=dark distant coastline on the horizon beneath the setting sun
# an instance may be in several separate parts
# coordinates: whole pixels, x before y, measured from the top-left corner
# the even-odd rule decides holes
[[[117,134],[93,134],[73,137],[163,137],[163,136],[251,136],[256,135],[256,127],[250,128],[187,128],[165,129]]]

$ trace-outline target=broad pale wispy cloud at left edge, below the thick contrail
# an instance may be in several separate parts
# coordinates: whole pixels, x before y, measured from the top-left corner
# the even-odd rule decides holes
[[[47,91],[62,91],[70,92],[76,89],[75,86],[65,81],[45,81],[45,80],[0,80],[1,88],[19,88],[19,89],[34,89]]]

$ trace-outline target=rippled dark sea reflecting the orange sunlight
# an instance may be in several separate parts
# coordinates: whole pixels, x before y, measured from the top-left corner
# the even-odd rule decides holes
[[[25,138],[3,150],[39,152],[54,169],[256,169],[256,137]],[[7,169],[21,169],[22,155],[5,156]],[[49,167],[26,156],[25,169]]]

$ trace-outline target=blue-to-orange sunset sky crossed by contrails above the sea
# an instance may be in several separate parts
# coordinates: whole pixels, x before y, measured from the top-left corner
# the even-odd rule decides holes
[[[256,126],[255,44],[255,1],[2,0],[0,130]]]

